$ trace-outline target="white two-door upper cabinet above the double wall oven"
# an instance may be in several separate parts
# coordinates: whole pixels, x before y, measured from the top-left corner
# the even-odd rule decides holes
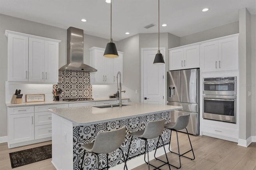
[[[202,72],[238,69],[238,34],[200,45]]]

